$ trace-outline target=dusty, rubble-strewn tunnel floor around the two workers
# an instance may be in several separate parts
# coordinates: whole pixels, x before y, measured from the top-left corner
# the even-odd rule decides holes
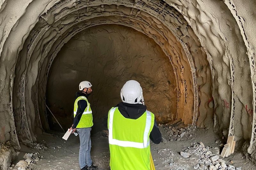
[[[216,135],[211,128],[206,130],[193,126],[187,127],[178,122],[171,126],[159,125],[159,129],[163,135],[163,142],[160,144],[151,142],[150,144],[156,170],[203,170],[211,169],[210,165],[215,167],[215,165],[218,163],[221,164],[221,162],[225,163],[227,166],[224,169],[239,170],[239,167],[246,170],[255,169],[255,165],[253,165],[250,160],[246,159],[240,151],[236,150],[233,154],[228,156],[228,158],[220,157],[214,162],[207,158],[207,153],[204,151],[205,148],[207,149],[209,147],[209,151],[212,151],[212,154],[215,155],[216,149],[218,150],[219,148],[221,151],[219,145],[225,142]],[[62,139],[63,135],[64,133],[38,135],[37,143],[31,146],[21,145],[19,157],[13,163],[16,164],[19,160],[25,160],[23,156],[26,153],[34,153],[34,155],[37,154],[35,155],[36,157],[40,157],[40,160],[32,161],[28,169],[80,170],[78,163],[79,137],[71,135],[68,141],[64,141]],[[101,170],[109,170],[108,138],[103,132],[99,132],[94,134],[91,139],[91,156],[93,163]],[[202,142],[204,146],[202,146],[200,142]],[[42,149],[38,149],[38,147]],[[202,149],[203,152],[200,149]],[[181,156],[180,152],[189,153],[190,156],[185,158]],[[211,156],[212,155],[208,155],[208,157]],[[206,162],[203,162],[204,160],[206,160]],[[223,164],[221,165],[223,166]],[[14,167],[14,165],[12,165],[12,167]],[[221,167],[215,170],[217,169],[221,169]]]

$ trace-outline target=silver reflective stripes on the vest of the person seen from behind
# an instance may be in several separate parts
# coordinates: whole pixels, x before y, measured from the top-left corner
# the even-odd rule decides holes
[[[151,127],[151,112],[147,112],[147,119],[146,119],[146,127],[143,135],[143,143],[139,142],[131,142],[131,141],[120,141],[117,139],[113,139],[113,117],[114,117],[114,112],[117,109],[117,107],[112,108],[109,112],[109,134],[108,134],[108,140],[109,144],[112,145],[118,145],[118,146],[123,146],[123,147],[133,147],[133,148],[147,148],[149,145],[149,138],[148,138],[148,133],[150,131]]]

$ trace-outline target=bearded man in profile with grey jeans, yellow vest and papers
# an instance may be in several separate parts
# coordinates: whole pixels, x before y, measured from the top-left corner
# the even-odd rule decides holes
[[[88,102],[88,96],[92,93],[92,84],[89,81],[82,81],[76,92],[74,104],[74,121],[70,128],[74,133],[76,130],[80,138],[79,165],[81,170],[97,169],[92,165],[91,159],[91,130],[92,130],[92,109]],[[69,130],[69,131],[70,131]]]

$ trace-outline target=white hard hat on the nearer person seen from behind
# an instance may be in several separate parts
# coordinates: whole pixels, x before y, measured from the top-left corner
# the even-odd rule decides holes
[[[137,104],[142,97],[140,83],[135,80],[127,81],[121,89],[121,99],[124,103]]]

